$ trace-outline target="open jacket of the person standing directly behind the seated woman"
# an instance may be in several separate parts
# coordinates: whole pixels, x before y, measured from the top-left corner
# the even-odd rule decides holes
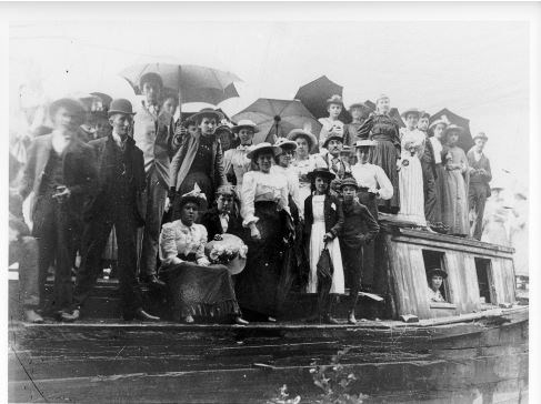
[[[196,153],[199,149],[200,137],[200,133],[198,133],[198,135],[184,135],[180,149],[174,154],[174,158],[171,162],[171,186],[174,186],[177,191],[180,189],[182,181],[184,181],[188,172],[190,171],[191,164],[193,163],[193,159],[196,158]],[[228,182],[228,180],[226,179],[226,172],[223,170],[222,147],[220,143],[220,139],[218,139],[217,137],[214,137],[214,141],[212,142],[212,162],[210,178],[212,180],[212,186],[214,189]]]

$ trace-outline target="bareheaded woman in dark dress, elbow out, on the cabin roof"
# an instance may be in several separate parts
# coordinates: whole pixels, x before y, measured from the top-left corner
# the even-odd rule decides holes
[[[370,151],[369,162],[383,169],[393,188],[390,200],[380,200],[379,210],[384,213],[398,213],[400,210],[399,173],[397,161],[400,160],[401,147],[398,122],[389,115],[389,97],[380,95],[375,100],[375,113],[371,113],[357,132],[361,139],[375,141]]]

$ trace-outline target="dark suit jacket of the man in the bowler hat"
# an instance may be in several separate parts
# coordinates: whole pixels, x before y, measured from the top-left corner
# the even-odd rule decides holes
[[[110,174],[110,170],[114,164],[112,161],[114,140],[110,134],[89,142],[89,145],[93,148],[96,161],[98,162],[98,184],[94,194],[84,209],[84,220],[87,221],[102,214],[103,208],[111,203],[109,195],[104,191],[109,180],[108,174]],[[127,164],[127,173],[129,175],[128,180],[133,188],[133,214],[139,225],[143,225],[147,212],[143,153],[136,145],[134,140],[129,137],[126,140],[126,153],[127,159],[131,162]]]

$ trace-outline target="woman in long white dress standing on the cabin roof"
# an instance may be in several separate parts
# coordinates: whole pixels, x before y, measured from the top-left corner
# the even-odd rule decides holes
[[[420,226],[424,218],[424,190],[419,156],[424,153],[424,133],[417,129],[420,111],[410,108],[402,114],[407,128],[401,130],[401,155],[398,161],[400,211],[399,216]]]

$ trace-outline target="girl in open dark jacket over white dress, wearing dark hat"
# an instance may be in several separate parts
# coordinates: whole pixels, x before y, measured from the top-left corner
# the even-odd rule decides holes
[[[344,293],[344,276],[340,243],[337,239],[343,225],[342,203],[329,193],[330,182],[334,174],[327,168],[315,169],[309,174],[312,181],[313,194],[304,201],[304,241],[307,256],[310,257],[310,273],[308,293],[325,292],[318,287],[318,262],[323,249],[328,249],[333,266],[332,284],[327,294]],[[318,319],[325,323],[335,324],[332,317],[334,296],[318,300]]]

